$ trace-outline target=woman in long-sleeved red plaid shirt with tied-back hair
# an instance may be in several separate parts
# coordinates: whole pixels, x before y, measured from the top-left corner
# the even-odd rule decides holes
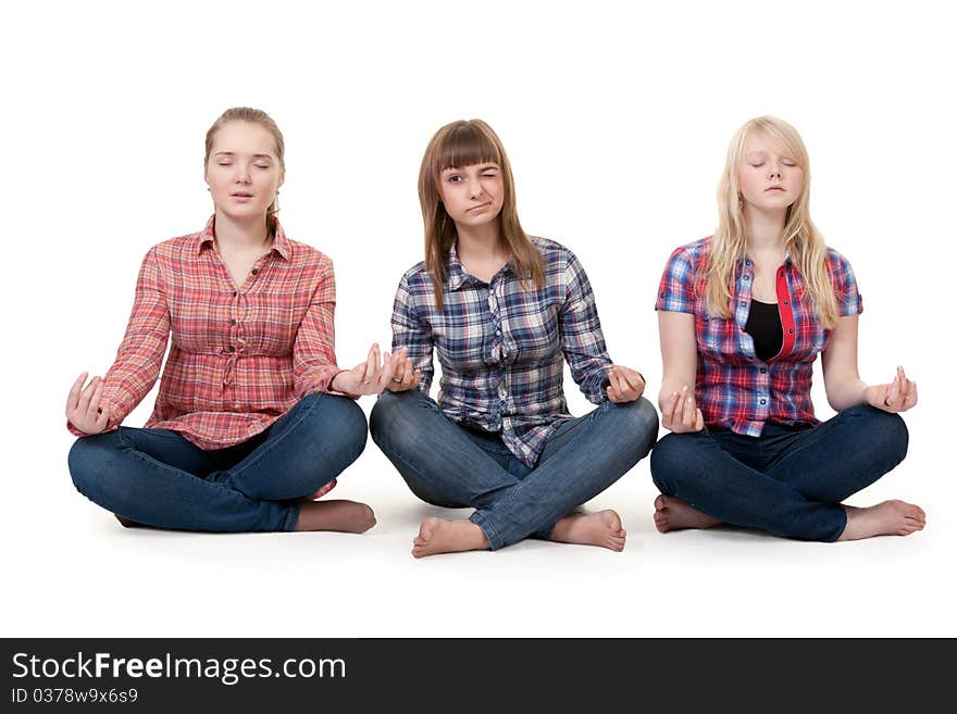
[[[66,402],[76,488],[124,525],[209,531],[362,533],[372,510],[314,501],[365,447],[353,401],[393,360],[373,346],[336,366],[328,258],[276,217],[285,143],[261,110],[227,110],[206,139],[214,213],[147,253],[116,360]],[[152,388],[145,428],[121,426]],[[381,361],[382,360],[382,361]]]

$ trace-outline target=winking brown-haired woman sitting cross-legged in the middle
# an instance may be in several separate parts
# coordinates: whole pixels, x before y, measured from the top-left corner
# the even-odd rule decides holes
[[[425,261],[399,281],[393,350],[403,352],[370,430],[415,496],[475,511],[425,518],[412,554],[497,550],[529,536],[622,550],[614,511],[576,509],[648,453],[658,418],[641,374],[608,358],[584,270],[567,248],[522,230],[508,158],[485,122],[435,134],[419,198]],[[598,405],[585,416],[566,405],[564,362]]]

